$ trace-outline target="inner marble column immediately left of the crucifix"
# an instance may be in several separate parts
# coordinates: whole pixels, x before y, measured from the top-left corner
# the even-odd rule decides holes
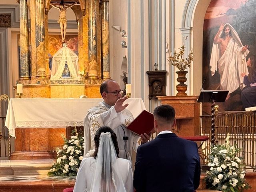
[[[36,78],[46,78],[44,0],[36,0]]]

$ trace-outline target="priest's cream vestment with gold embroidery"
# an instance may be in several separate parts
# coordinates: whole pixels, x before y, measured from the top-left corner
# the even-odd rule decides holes
[[[90,108],[84,118],[84,157],[89,150],[95,148],[94,135],[101,126],[109,126],[114,130],[117,136],[119,157],[127,158],[132,161],[132,149],[137,151],[137,144],[140,136],[134,134],[126,128],[134,120],[132,113],[124,109],[116,113],[114,106],[108,108],[103,102]],[[124,147],[123,136],[128,136],[126,142],[126,152]],[[127,154],[127,157],[126,157]]]

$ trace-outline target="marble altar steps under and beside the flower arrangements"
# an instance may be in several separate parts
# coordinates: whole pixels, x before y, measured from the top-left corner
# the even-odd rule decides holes
[[[76,177],[47,176],[54,160],[0,160],[0,192],[62,192],[73,187]],[[205,190],[205,173],[201,175],[198,192]],[[248,192],[256,192],[256,173],[247,170],[246,180],[252,185]]]

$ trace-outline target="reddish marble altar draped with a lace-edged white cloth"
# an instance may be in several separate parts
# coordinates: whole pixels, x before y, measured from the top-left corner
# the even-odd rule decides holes
[[[66,127],[83,126],[89,108],[102,99],[10,99],[5,126],[15,137],[11,159],[54,158],[54,149],[63,145]],[[142,99],[130,98],[127,109],[136,118],[146,109]]]

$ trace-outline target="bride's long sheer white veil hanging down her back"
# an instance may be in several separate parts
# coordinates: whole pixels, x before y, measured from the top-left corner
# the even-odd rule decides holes
[[[111,134],[102,132],[90,192],[126,192],[116,160]]]

